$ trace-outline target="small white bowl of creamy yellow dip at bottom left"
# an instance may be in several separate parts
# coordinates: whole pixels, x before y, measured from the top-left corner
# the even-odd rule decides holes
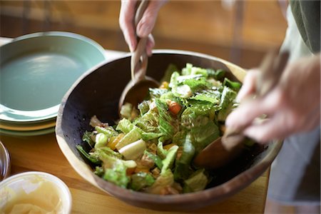
[[[33,205],[54,213],[71,213],[72,199],[68,186],[49,173],[32,171],[4,179],[0,183],[0,198],[0,210],[4,213],[14,206],[28,210],[35,208]]]

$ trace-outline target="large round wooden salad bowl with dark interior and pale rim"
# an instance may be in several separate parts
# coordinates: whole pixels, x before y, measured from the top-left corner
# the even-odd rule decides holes
[[[262,175],[277,156],[281,141],[265,146],[255,144],[224,168],[207,189],[180,195],[153,195],[127,190],[93,173],[92,165],[85,161],[76,146],[85,146],[82,136],[91,130],[89,121],[96,115],[101,121],[114,124],[118,120],[118,101],[123,88],[130,81],[130,54],[113,61],[105,61],[78,78],[63,97],[56,121],[58,146],[73,169],[97,188],[123,200],[125,203],[154,210],[192,210],[224,200]],[[222,68],[231,80],[243,81],[245,71],[220,58],[190,51],[156,50],[148,59],[147,75],[160,81],[167,66],[173,63],[183,68],[186,63],[203,68]],[[197,203],[195,203],[197,202]]]

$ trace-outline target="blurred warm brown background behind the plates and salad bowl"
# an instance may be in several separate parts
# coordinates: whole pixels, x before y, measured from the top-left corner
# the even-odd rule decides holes
[[[156,21],[156,49],[210,54],[244,68],[258,66],[282,44],[287,1],[168,1]],[[118,16],[121,1],[0,1],[0,36],[70,31],[105,49],[128,51]]]

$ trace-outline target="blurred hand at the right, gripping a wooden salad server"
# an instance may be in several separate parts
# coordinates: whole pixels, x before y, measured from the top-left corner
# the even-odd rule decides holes
[[[263,97],[250,99],[255,91],[257,71],[249,71],[238,93],[242,100],[226,120],[228,128],[238,129],[250,123],[243,133],[265,143],[310,131],[320,124],[320,54],[290,63],[280,82]],[[252,123],[267,115],[263,123]]]

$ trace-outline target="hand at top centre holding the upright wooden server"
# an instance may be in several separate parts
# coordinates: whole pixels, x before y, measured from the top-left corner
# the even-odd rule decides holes
[[[165,4],[166,0],[149,1],[149,4],[144,12],[141,21],[138,22],[135,28],[134,19],[136,14],[136,0],[122,0],[121,1],[121,12],[119,14],[119,25],[123,31],[123,36],[128,44],[131,52],[135,51],[137,46],[137,36],[141,38],[148,37],[146,44],[146,53],[151,56],[155,41],[151,35],[151,31],[155,26],[156,18],[159,9]]]

